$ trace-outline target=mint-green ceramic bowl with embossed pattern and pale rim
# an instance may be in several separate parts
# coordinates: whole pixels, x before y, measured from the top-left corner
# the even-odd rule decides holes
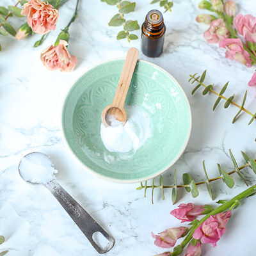
[[[139,60],[125,104],[147,111],[152,136],[128,159],[109,152],[100,139],[100,117],[113,100],[123,66],[124,60],[106,61],[76,81],[63,104],[62,131],[86,170],[128,183],[156,177],[179,159],[188,144],[191,111],[184,91],[168,72]]]

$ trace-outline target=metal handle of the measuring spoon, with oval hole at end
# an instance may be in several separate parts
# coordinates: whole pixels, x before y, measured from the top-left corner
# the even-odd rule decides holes
[[[81,229],[83,234],[88,238],[90,243],[99,253],[106,253],[113,247],[115,241],[100,225],[93,220],[93,218],[86,212],[81,205],[79,205],[72,196],[70,196],[65,189],[63,189],[56,180],[51,180],[45,187],[51,191],[52,195],[58,200],[69,216],[74,220],[76,225]],[[106,249],[103,250],[95,243],[92,236],[95,232],[100,232],[109,243]]]

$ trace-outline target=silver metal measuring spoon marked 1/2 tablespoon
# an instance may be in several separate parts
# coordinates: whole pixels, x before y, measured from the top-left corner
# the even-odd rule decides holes
[[[39,163],[35,163],[35,159],[38,159]],[[52,176],[48,175],[45,179],[47,180],[45,183],[40,182],[40,180],[36,179],[30,179],[26,177],[28,175],[26,168],[26,161],[32,161],[32,166],[40,166],[40,164],[45,163],[49,165],[49,168],[52,168]],[[24,164],[25,163],[25,164]],[[33,166],[33,167],[34,167]],[[34,171],[35,172],[35,171]],[[30,154],[27,154],[24,156],[19,163],[19,173],[22,179],[24,179],[29,184],[42,184],[44,185],[49,191],[51,191],[52,195],[55,196],[55,198],[58,200],[58,202],[62,205],[62,207],[67,211],[69,216],[74,220],[76,225],[81,229],[83,234],[88,238],[90,243],[93,245],[93,247],[97,250],[99,253],[106,253],[113,247],[115,241],[114,239],[109,236],[109,234],[102,228],[100,225],[93,220],[93,218],[86,212],[81,205],[79,205],[72,196],[70,196],[65,189],[63,189],[60,184],[56,181],[54,177],[54,168],[53,164],[51,162],[51,159],[49,156],[40,153],[40,152],[33,152]],[[41,175],[42,176],[42,175]],[[100,248],[100,246],[95,243],[93,240],[93,234],[95,232],[100,232],[106,239],[109,241],[109,243],[106,246],[106,249]]]

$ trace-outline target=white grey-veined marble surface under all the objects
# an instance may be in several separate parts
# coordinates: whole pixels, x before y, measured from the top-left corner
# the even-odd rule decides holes
[[[182,85],[191,104],[191,138],[179,161],[164,173],[166,184],[173,184],[175,168],[180,182],[183,172],[191,173],[197,181],[204,179],[204,159],[210,177],[218,175],[216,163],[232,170],[229,148],[239,165],[243,164],[240,150],[256,158],[256,123],[247,125],[250,116],[243,114],[232,124],[237,108],[223,109],[223,104],[220,104],[212,112],[216,100],[214,95],[202,97],[198,92],[191,96],[189,74],[207,68],[207,83],[215,83],[216,90],[220,90],[230,81],[227,95],[236,93],[237,100],[241,100],[248,90],[246,108],[254,112],[256,109],[256,90],[246,85],[255,68],[246,68],[225,59],[223,49],[205,42],[202,34],[207,26],[195,22],[200,12],[198,2],[175,0],[173,12],[164,13],[167,30],[162,56],[151,59],[140,54],[141,59],[168,70]],[[241,13],[256,15],[255,1],[237,2],[243,5],[243,8],[240,6]],[[136,12],[127,14],[127,19],[138,19],[141,25],[149,10],[161,10],[158,4],[149,3],[149,0],[137,0]],[[1,5],[8,4],[10,1],[1,0]],[[115,6],[99,0],[81,1],[77,20],[70,27],[68,47],[77,56],[77,66],[70,73],[47,70],[40,62],[40,51],[54,43],[60,29],[70,19],[74,5],[75,1],[70,0],[61,8],[56,31],[38,48],[32,48],[40,37],[38,35],[21,42],[9,36],[0,38],[3,48],[0,61],[0,234],[6,237],[0,250],[9,250],[8,255],[12,256],[97,255],[51,193],[44,187],[26,184],[19,177],[17,166],[20,158],[28,152],[41,151],[51,156],[60,171],[57,175],[60,184],[115,237],[116,244],[108,256],[164,252],[154,245],[150,232],[157,233],[180,225],[170,216],[170,211],[177,207],[172,205],[170,191],[166,189],[166,199],[162,200],[156,189],[152,205],[151,191],[148,189],[147,198],[144,198],[143,191],[136,190],[139,184],[114,184],[100,180],[83,170],[70,156],[61,138],[61,106],[74,81],[92,65],[111,58],[124,58],[131,46],[140,48],[140,40],[129,44],[115,39],[120,28],[108,26],[108,21],[116,13]],[[17,19],[12,20],[18,24]],[[140,31],[135,33],[140,35]],[[244,171],[244,175],[250,185],[255,184],[251,170]],[[214,201],[209,198],[205,186],[200,186],[200,195],[195,199],[180,191],[179,203],[216,205],[216,200],[230,199],[246,189],[237,177],[234,179],[236,185],[233,189],[228,189],[222,182],[212,182]],[[205,245],[202,255],[254,255],[255,204],[256,197],[244,200],[241,207],[234,210],[227,233],[217,247]]]

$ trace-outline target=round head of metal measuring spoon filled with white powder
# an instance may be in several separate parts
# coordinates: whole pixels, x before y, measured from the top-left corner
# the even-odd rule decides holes
[[[47,184],[58,173],[49,157],[40,152],[24,156],[20,161],[19,171],[22,179],[36,184]]]

